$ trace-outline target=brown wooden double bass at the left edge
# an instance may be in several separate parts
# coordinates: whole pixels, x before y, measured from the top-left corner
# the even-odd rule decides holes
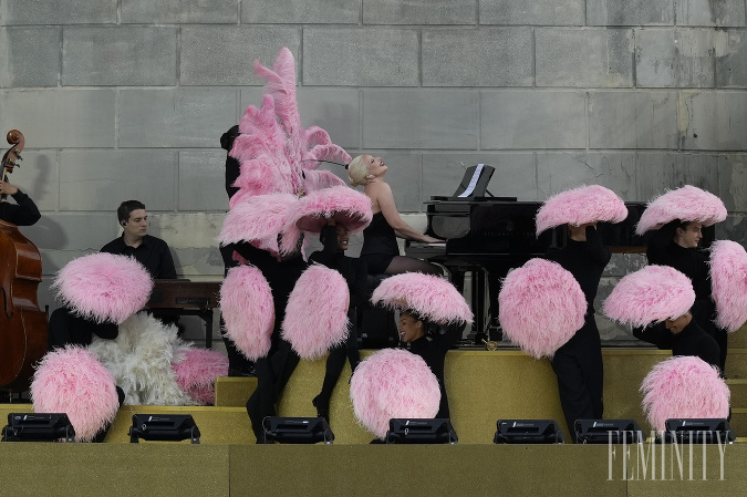
[[[21,161],[24,145],[18,130],[8,132],[7,139],[12,147],[2,156],[3,182]],[[41,276],[37,246],[0,219],[0,390],[28,390],[33,365],[46,352],[46,314],[37,300]]]

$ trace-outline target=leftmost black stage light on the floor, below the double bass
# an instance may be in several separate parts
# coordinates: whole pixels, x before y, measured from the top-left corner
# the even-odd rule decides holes
[[[74,442],[75,429],[63,413],[9,413],[2,442]]]

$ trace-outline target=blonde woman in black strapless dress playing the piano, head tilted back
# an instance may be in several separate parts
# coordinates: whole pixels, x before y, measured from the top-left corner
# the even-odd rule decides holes
[[[400,255],[396,237],[411,240],[438,242],[437,238],[423,235],[405,222],[394,203],[392,188],[385,182],[387,166],[381,157],[359,155],[347,166],[347,176],[353,186],[364,185],[371,198],[373,219],[363,230],[361,259],[369,266],[369,275],[398,275],[417,271],[443,275],[440,267],[412,257]]]

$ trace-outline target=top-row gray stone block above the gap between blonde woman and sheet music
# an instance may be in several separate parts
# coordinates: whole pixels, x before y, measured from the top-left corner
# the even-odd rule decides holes
[[[366,0],[363,24],[475,24],[475,0]]]

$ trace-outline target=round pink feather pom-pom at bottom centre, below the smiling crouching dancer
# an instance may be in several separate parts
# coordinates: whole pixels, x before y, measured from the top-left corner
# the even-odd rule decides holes
[[[438,414],[438,380],[423,358],[396,349],[371,354],[355,369],[350,398],[357,421],[384,438],[393,417]]]

